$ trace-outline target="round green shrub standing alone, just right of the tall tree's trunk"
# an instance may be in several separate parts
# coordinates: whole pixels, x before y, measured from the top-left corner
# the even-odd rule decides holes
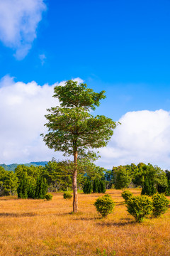
[[[115,203],[111,199],[111,196],[104,195],[96,199],[96,202],[94,203],[94,206],[96,206],[96,210],[98,213],[101,214],[101,216],[104,218],[109,213],[113,212],[113,209],[115,207]]]

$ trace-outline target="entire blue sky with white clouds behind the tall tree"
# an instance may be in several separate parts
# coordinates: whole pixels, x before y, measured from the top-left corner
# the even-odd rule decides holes
[[[40,133],[54,86],[75,79],[122,123],[98,165],[169,169],[169,25],[169,0],[0,0],[0,164],[63,159]]]

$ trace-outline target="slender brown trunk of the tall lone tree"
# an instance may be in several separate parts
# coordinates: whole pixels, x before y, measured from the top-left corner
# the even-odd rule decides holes
[[[77,213],[77,151],[74,151],[74,173],[72,179],[73,187],[73,213]]]

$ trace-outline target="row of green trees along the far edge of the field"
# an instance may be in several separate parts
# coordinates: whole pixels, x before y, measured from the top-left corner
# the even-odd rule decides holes
[[[87,159],[79,159],[78,163],[77,185],[79,190],[84,189],[85,193],[100,192],[102,186],[101,192],[105,191],[105,188],[140,187],[142,194],[149,196],[157,191],[170,195],[170,171],[163,171],[158,166],[140,163],[106,170]],[[73,165],[72,161],[52,159],[45,167],[18,165],[14,171],[6,171],[0,166],[0,196],[15,195],[17,191],[18,195],[25,193],[19,189],[27,186],[28,197],[38,198],[36,189],[38,191],[38,186],[42,187],[41,183],[45,184],[43,189],[49,192],[71,191]],[[101,185],[96,181],[100,181]],[[95,187],[98,187],[98,190],[95,190]],[[32,196],[29,196],[31,193]]]

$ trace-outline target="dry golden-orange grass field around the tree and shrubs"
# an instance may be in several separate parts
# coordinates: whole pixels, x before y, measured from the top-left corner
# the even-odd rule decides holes
[[[170,209],[138,224],[126,211],[122,191],[107,193],[116,206],[105,219],[94,207],[97,193],[79,193],[77,214],[63,193],[55,193],[52,201],[0,198],[0,255],[170,255]]]

